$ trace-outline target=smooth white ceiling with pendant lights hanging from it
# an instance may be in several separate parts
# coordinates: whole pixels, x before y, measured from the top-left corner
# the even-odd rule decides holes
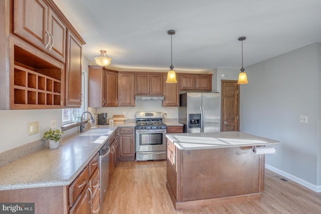
[[[119,71],[207,72],[241,68],[321,42],[320,0],[54,0],[86,41]]]

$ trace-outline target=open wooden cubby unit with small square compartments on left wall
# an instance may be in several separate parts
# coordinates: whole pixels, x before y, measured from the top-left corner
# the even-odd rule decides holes
[[[61,108],[61,77],[61,68],[15,47],[14,106]]]

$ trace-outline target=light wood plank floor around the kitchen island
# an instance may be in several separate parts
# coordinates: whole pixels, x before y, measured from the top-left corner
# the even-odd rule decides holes
[[[117,162],[100,213],[321,213],[321,193],[273,175],[265,169],[261,200],[176,211],[166,190],[166,161]]]

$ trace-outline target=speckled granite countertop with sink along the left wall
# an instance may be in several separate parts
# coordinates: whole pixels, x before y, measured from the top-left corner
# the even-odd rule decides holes
[[[83,133],[77,133],[60,142],[57,149],[47,147],[1,167],[0,190],[71,184],[109,136],[123,126],[135,124],[98,126],[98,129],[109,129],[108,135],[80,136]]]

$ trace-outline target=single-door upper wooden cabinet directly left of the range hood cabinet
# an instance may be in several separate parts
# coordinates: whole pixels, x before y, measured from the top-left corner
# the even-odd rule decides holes
[[[135,106],[135,75],[119,73],[118,77],[118,106]]]

